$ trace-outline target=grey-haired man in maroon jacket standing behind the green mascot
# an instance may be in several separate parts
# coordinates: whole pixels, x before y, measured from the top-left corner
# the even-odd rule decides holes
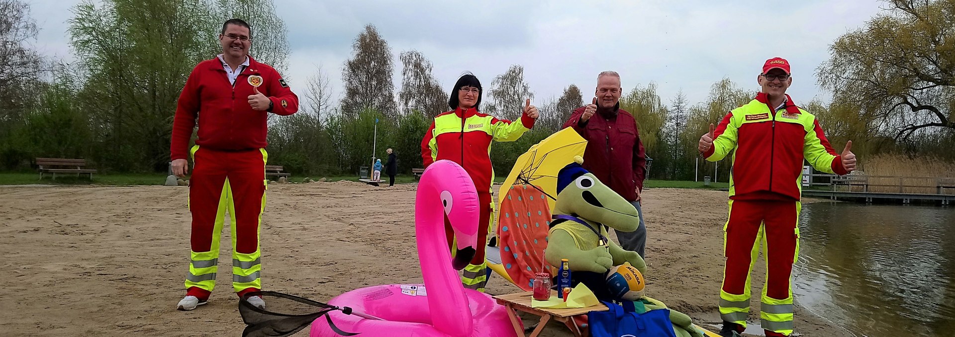
[[[632,232],[617,231],[620,246],[641,257],[647,247],[647,227],[640,209],[647,155],[640,142],[633,115],[620,109],[620,74],[604,71],[597,76],[593,104],[574,110],[563,128],[574,128],[587,140],[584,169],[624,197],[640,214],[640,227]]]

